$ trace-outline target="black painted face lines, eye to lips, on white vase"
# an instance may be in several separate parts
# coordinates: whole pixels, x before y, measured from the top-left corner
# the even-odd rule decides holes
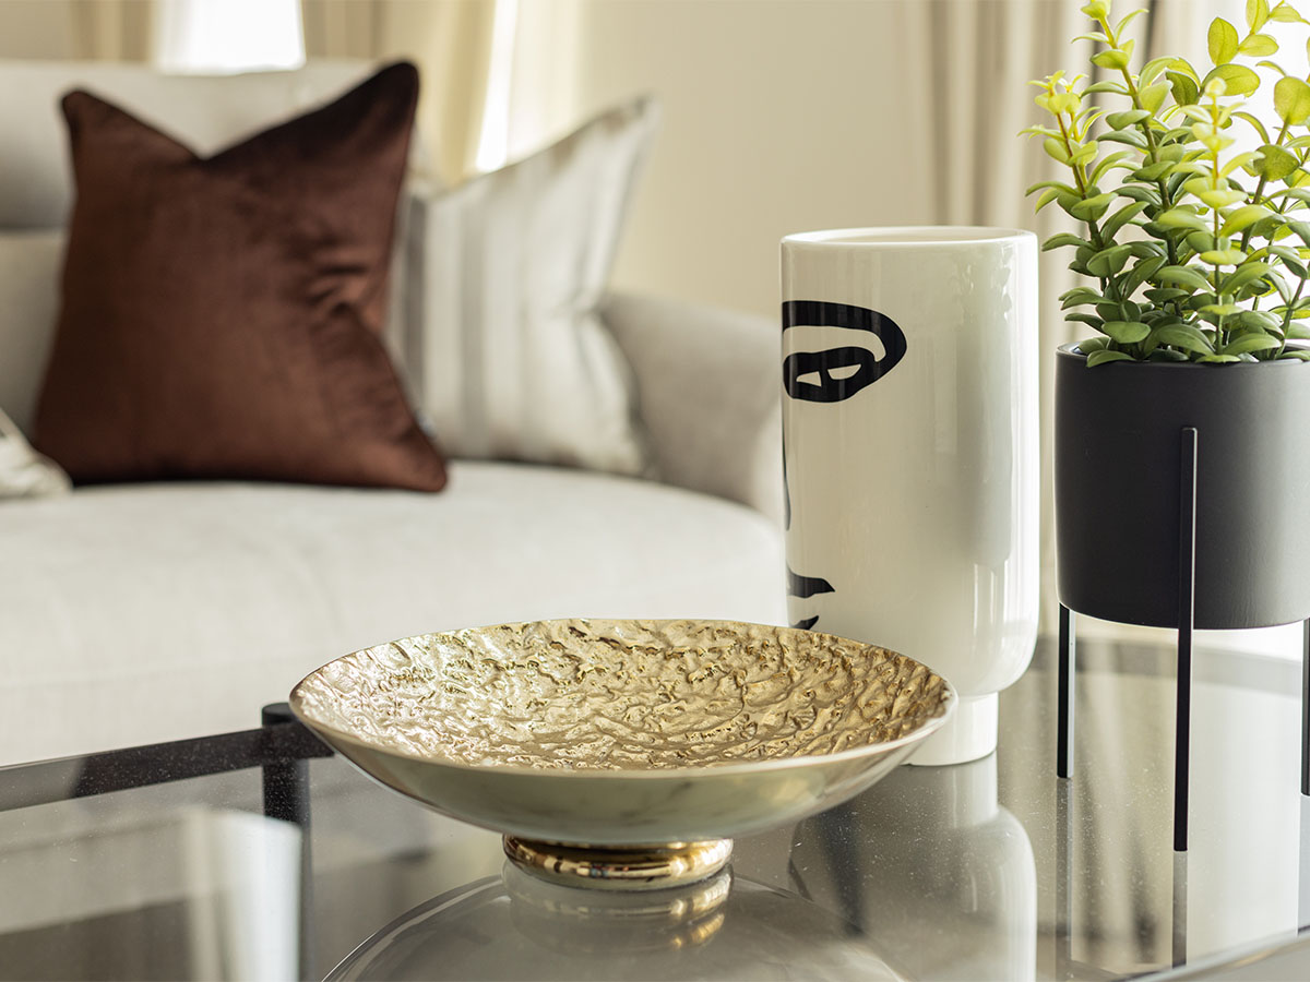
[[[791,327],[849,327],[869,331],[882,342],[882,356],[872,347],[844,344],[823,351],[798,351],[782,361],[787,398],[806,402],[845,402],[886,376],[905,357],[905,334],[886,314],[852,304],[823,300],[787,300],[782,305],[782,330]],[[854,371],[849,371],[849,369]],[[812,380],[812,381],[811,381]],[[787,448],[782,448],[783,528],[791,528],[791,487],[787,478]],[[834,593],[821,576],[803,576],[787,567],[787,596],[812,597]],[[796,621],[793,627],[812,628],[819,617]]]

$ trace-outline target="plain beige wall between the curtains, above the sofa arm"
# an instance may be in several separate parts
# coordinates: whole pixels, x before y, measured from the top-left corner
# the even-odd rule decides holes
[[[583,0],[579,113],[664,107],[616,283],[772,316],[783,234],[938,217],[901,151],[929,126],[913,29],[880,0]]]

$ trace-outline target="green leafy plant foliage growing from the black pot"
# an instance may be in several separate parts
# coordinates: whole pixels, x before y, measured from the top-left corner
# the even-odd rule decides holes
[[[1133,71],[1127,31],[1141,10],[1115,21],[1110,0],[1093,0],[1082,12],[1095,27],[1078,39],[1096,46],[1099,73],[1034,82],[1049,118],[1024,132],[1069,169],[1028,194],[1079,223],[1043,249],[1072,249],[1069,268],[1086,278],[1060,299],[1096,331],[1078,343],[1089,367],[1310,360],[1289,344],[1310,338],[1310,75],[1273,60],[1265,33],[1310,21],[1289,3],[1247,0],[1244,31],[1210,24],[1203,75],[1176,56]],[[1248,101],[1268,84],[1273,117],[1262,122]]]

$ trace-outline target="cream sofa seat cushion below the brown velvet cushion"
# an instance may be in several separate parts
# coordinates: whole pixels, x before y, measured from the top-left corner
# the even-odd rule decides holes
[[[0,763],[255,725],[316,666],[553,617],[783,623],[781,534],[743,505],[457,461],[441,495],[98,486],[0,505]]]

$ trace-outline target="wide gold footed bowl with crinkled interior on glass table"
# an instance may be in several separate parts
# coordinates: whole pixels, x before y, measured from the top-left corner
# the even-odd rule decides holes
[[[955,706],[920,663],[732,621],[540,621],[324,665],[291,708],[365,774],[538,875],[664,886],[859,793]]]

